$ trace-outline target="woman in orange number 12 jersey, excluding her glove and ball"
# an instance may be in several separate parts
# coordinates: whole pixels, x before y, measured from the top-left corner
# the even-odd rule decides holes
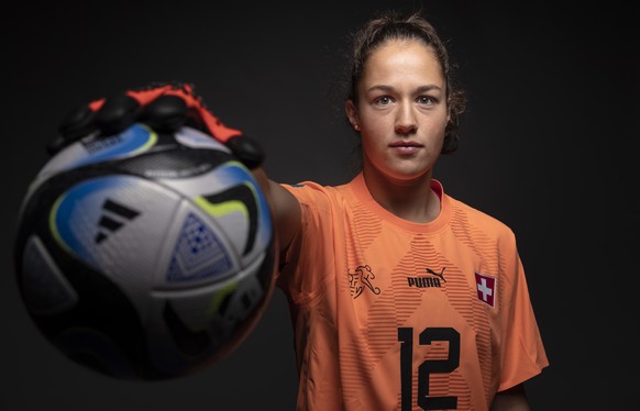
[[[548,359],[512,232],[433,179],[462,93],[419,15],[354,37],[346,116],[363,168],[339,187],[269,181],[302,410],[528,410]],[[264,181],[264,177],[263,177]]]

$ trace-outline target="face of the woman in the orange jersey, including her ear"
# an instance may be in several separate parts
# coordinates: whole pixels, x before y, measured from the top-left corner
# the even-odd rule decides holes
[[[358,103],[346,103],[361,131],[364,173],[395,182],[431,176],[448,121],[445,80],[432,48],[389,41],[367,59]]]

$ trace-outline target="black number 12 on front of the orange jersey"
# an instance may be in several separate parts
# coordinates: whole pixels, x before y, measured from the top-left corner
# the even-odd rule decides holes
[[[413,329],[398,327],[398,341],[402,411],[410,411],[413,402]],[[449,357],[426,359],[418,366],[418,406],[422,410],[455,410],[457,397],[429,397],[429,376],[451,373],[460,366],[460,333],[452,327],[427,327],[420,333],[418,344],[431,345],[434,341],[449,343]]]

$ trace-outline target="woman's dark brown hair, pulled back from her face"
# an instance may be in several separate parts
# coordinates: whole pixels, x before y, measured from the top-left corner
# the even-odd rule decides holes
[[[446,82],[446,104],[449,121],[444,130],[442,154],[457,149],[460,136],[460,114],[464,111],[466,96],[464,90],[455,89],[453,81],[453,65],[449,62],[449,53],[438,32],[419,12],[400,15],[394,11],[379,13],[369,20],[352,37],[350,56],[351,77],[347,87],[347,100],[357,104],[357,84],[362,79],[364,66],[368,57],[383,44],[390,40],[418,40],[427,46],[433,47],[440,62],[442,75]],[[347,75],[349,76],[349,75]]]

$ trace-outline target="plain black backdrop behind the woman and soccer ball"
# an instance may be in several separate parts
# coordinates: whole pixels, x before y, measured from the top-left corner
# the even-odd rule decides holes
[[[19,204],[70,108],[152,80],[196,84],[227,124],[263,142],[274,179],[344,181],[355,142],[335,91],[347,33],[375,10],[417,4],[449,38],[470,93],[461,148],[435,176],[518,237],[551,360],[527,385],[533,408],[629,409],[640,386],[640,42],[638,13],[617,3],[12,4],[1,29],[0,409],[293,410],[293,333],[279,290],[242,346],[192,376],[124,382],[62,357],[18,295]]]

